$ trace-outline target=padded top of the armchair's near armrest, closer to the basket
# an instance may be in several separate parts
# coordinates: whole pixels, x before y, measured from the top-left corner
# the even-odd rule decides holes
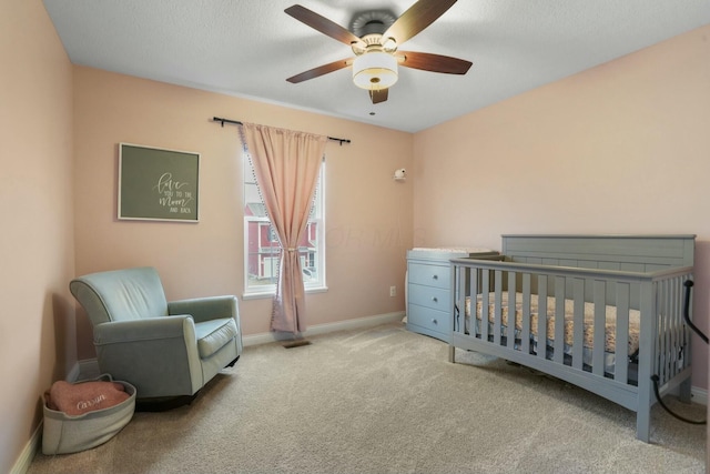
[[[94,344],[182,339],[196,343],[195,323],[189,314],[112,321],[93,330]]]

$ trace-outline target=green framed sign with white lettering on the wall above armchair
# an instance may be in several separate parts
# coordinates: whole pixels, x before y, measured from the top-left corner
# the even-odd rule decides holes
[[[119,219],[199,222],[200,153],[119,144]]]

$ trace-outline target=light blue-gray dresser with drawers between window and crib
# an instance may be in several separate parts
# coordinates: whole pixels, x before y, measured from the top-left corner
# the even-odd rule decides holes
[[[453,330],[450,259],[489,258],[487,249],[407,251],[407,330],[449,342]]]

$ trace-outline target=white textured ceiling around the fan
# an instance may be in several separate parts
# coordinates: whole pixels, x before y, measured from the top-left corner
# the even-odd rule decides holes
[[[415,0],[302,0],[349,29]],[[416,132],[710,23],[710,0],[459,0],[405,42],[471,61],[466,75],[399,68],[386,102],[343,69],[349,48],[284,13],[295,0],[44,0],[74,64]],[[219,111],[215,111],[219,113]],[[374,114],[373,114],[374,113]],[[234,117],[239,120],[239,117]]]

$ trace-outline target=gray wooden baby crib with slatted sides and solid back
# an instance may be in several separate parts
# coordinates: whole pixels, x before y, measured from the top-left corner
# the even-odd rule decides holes
[[[694,235],[503,235],[496,260],[453,259],[456,349],[501,357],[636,412],[649,442],[656,403],[690,402],[683,291]]]

